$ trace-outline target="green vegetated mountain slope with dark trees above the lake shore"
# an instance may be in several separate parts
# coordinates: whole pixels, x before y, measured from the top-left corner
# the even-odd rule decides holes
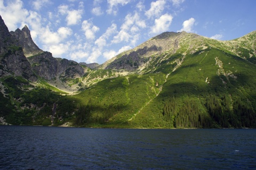
[[[255,31],[226,42],[165,33],[147,43],[164,42],[165,35],[174,44],[169,50],[150,51],[149,56],[142,51],[143,56],[133,59],[145,65],[127,74],[90,70],[76,81],[86,84],[76,95],[42,78],[33,85],[21,77],[2,77],[0,87],[6,95],[0,95],[0,117],[18,125],[256,127]]]

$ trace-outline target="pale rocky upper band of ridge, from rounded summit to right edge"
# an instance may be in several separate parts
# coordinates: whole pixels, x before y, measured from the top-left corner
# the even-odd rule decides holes
[[[185,31],[181,33],[165,32],[115,56],[99,68],[124,70],[128,71],[128,74],[132,72],[144,74],[145,72],[154,72],[161,67],[161,63],[169,62],[170,55],[180,55],[182,58],[187,54],[194,54],[211,47],[240,56],[255,64],[255,38],[256,31],[233,41],[218,41]],[[177,65],[180,61],[182,60],[177,60]]]

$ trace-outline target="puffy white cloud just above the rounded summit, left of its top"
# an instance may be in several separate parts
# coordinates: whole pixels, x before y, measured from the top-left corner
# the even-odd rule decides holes
[[[150,33],[158,34],[167,31],[172,23],[172,15],[164,14],[159,19],[155,19],[155,25],[151,27]]]

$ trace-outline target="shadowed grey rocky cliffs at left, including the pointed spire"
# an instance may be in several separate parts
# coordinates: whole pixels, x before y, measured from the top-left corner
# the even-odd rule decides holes
[[[75,61],[54,58],[50,52],[38,48],[27,26],[9,33],[0,16],[0,76],[22,76],[33,82],[39,76],[65,84],[70,79],[81,78],[85,70]],[[54,83],[60,82],[52,85]]]

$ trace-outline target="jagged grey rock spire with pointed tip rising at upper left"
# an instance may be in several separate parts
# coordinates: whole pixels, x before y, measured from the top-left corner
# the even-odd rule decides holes
[[[38,48],[31,38],[30,30],[27,26],[23,27],[22,30],[18,28],[14,32],[11,31],[10,33],[18,40],[18,46],[22,47],[25,56],[43,53],[43,50]]]

